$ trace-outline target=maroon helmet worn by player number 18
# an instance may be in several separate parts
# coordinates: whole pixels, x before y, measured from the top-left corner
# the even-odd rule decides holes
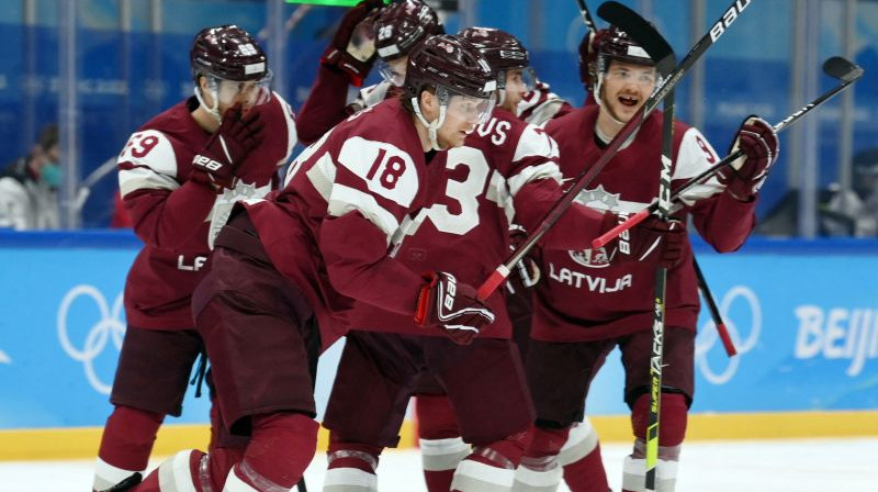
[[[482,53],[469,41],[440,34],[428,37],[408,56],[403,89],[408,99],[420,96],[426,86],[491,99],[497,80]]]

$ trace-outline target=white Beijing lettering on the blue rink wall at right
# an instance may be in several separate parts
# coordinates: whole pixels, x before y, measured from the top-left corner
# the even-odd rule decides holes
[[[804,304],[795,313],[797,359],[847,359],[845,373],[854,378],[863,372],[866,360],[878,358],[878,310]]]

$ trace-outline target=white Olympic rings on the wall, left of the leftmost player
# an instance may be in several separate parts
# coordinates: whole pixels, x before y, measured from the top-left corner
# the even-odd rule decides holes
[[[91,298],[100,313],[100,320],[91,326],[82,348],[78,348],[70,340],[68,332],[68,314],[74,302],[80,297]],[[112,340],[116,350],[122,348],[122,338],[125,336],[125,324],[122,322],[122,293],[113,302],[112,310],[106,304],[103,294],[92,286],[80,284],[72,288],[61,300],[58,309],[58,340],[61,348],[74,360],[82,362],[86,378],[95,391],[110,394],[111,383],[104,383],[94,370],[94,359],[103,353],[106,344]]]

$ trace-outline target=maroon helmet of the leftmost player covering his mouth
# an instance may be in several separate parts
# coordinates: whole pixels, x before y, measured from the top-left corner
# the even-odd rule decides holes
[[[268,58],[259,43],[237,25],[201,30],[189,52],[192,75],[224,80],[262,80],[270,76]]]

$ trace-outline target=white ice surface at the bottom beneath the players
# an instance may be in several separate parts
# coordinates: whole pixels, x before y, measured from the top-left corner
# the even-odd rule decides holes
[[[605,444],[610,485],[619,491],[622,457],[630,448]],[[878,437],[686,443],[677,492],[878,492]],[[155,461],[153,466],[157,465]],[[0,461],[0,492],[90,490],[92,460]],[[305,472],[309,492],[323,489],[325,456]],[[424,492],[417,450],[389,451],[379,467],[381,492]],[[569,492],[564,485],[561,492]]]

